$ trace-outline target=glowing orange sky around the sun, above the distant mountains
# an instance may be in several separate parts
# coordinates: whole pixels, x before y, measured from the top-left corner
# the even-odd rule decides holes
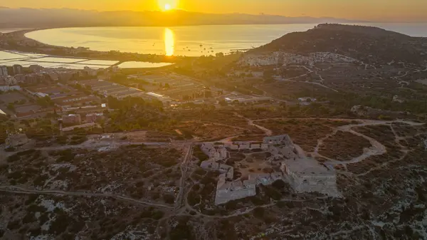
[[[0,5],[98,11],[159,10],[158,1],[178,0],[13,0]],[[179,8],[206,13],[332,16],[371,21],[426,21],[427,0],[179,0]]]

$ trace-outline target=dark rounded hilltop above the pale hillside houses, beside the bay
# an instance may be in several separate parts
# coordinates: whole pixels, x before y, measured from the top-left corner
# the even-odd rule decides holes
[[[369,64],[401,61],[423,66],[427,63],[427,38],[415,38],[370,26],[320,24],[305,32],[288,33],[247,54],[273,52],[303,55],[330,52]]]

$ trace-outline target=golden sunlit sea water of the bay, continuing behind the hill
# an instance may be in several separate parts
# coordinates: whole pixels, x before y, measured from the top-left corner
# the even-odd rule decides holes
[[[427,23],[363,23],[409,36],[427,37]],[[87,27],[53,28],[26,33],[53,46],[86,47],[95,51],[164,54],[166,56],[209,56],[248,50],[270,43],[286,33],[307,31],[317,24]]]

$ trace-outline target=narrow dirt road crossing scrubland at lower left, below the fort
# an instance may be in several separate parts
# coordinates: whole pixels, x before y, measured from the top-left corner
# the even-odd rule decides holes
[[[157,204],[154,202],[144,202],[137,199],[132,199],[130,197],[124,197],[120,195],[113,194],[101,194],[101,193],[89,193],[89,192],[66,192],[59,190],[35,190],[35,189],[26,189],[18,186],[0,186],[0,192],[11,192],[16,194],[48,194],[48,195],[68,195],[68,196],[82,196],[82,197],[110,197],[113,199],[121,200],[123,202],[130,202],[135,204],[143,204],[152,207],[160,207],[164,209],[172,209],[171,206],[167,206],[164,204]]]

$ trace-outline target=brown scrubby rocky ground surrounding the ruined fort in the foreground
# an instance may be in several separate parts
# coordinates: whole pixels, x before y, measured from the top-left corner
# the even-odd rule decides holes
[[[423,123],[244,119],[265,134],[289,133],[306,155],[334,165],[342,198],[277,181],[216,205],[219,172],[199,167],[207,156],[189,141],[41,148],[9,154],[0,165],[1,238],[427,239]],[[226,162],[245,155],[235,150]],[[265,157],[256,154],[251,164]]]

